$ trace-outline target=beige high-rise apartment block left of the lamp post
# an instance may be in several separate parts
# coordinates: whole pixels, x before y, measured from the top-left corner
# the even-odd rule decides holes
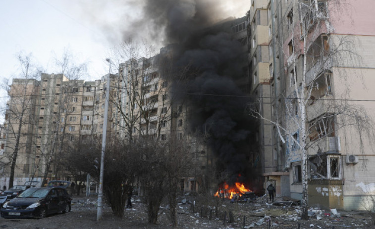
[[[102,130],[93,126],[103,123],[104,84],[69,80],[62,74],[42,74],[40,81],[14,79],[3,130],[1,185],[8,185],[16,147],[14,183],[42,181],[46,172],[50,180],[69,179],[59,165],[61,155],[94,134],[101,137]]]

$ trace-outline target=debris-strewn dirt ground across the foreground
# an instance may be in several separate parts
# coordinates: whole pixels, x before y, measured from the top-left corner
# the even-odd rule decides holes
[[[122,219],[114,217],[108,206],[104,207],[103,221],[96,221],[96,197],[74,197],[72,210],[66,214],[55,214],[41,220],[9,220],[0,217],[0,229],[171,229],[168,219],[168,207],[163,205],[159,212],[158,224],[150,225],[144,205],[135,196],[133,208],[125,210]],[[183,201],[185,202],[185,201]],[[375,229],[366,212],[339,212],[340,216],[329,216],[329,211],[319,212],[319,216],[310,217],[309,221],[298,218],[296,206],[275,206],[266,201],[255,203],[220,202],[217,216],[211,215],[210,208],[195,205],[194,212],[190,203],[194,198],[187,198],[186,203],[178,205],[179,229]],[[211,208],[213,209],[213,208]],[[233,223],[229,223],[229,211]],[[325,213],[325,214],[324,214]],[[204,217],[201,217],[202,214]],[[224,224],[224,216],[226,222]],[[321,219],[319,219],[321,218]],[[244,225],[245,222],[245,225]]]

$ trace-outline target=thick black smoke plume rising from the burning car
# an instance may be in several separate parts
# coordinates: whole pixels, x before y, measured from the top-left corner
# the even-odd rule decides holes
[[[218,177],[250,183],[257,176],[249,159],[255,124],[246,112],[249,93],[235,83],[247,79],[246,48],[231,36],[234,18],[214,24],[219,13],[214,5],[208,0],[148,0],[145,14],[173,44],[175,67],[189,66],[188,80],[172,91],[188,100],[191,129],[209,135]]]

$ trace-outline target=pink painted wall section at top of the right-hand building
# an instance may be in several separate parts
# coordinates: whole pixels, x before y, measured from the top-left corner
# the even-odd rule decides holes
[[[336,2],[345,2],[337,7]],[[329,2],[329,1],[328,1]],[[330,0],[329,16],[336,34],[375,35],[375,0]]]

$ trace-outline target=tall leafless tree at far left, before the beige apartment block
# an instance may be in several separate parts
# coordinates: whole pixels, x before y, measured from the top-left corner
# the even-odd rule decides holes
[[[33,136],[27,135],[27,130],[35,114],[36,95],[39,90],[37,79],[40,73],[32,61],[31,54],[19,53],[18,61],[21,79],[13,80],[12,87],[8,89],[10,101],[5,117],[7,142],[4,156],[7,157],[9,165],[9,188],[13,186],[16,162],[20,152],[27,155],[31,150]],[[28,171],[28,168],[21,169]]]

